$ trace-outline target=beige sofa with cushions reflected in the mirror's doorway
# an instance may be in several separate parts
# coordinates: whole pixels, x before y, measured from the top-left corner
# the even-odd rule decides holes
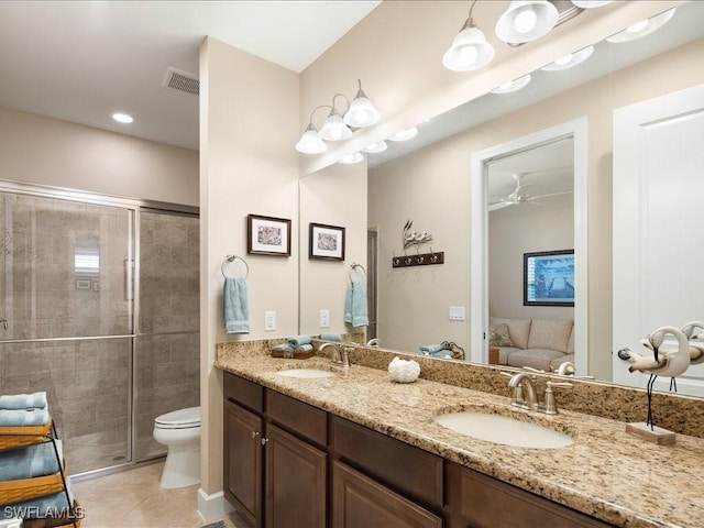
[[[573,329],[572,319],[491,317],[490,350],[496,364],[553,372],[574,363]]]

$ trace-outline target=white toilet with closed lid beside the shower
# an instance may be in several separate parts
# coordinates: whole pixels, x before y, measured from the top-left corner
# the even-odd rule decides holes
[[[174,410],[154,420],[154,440],[168,448],[162,487],[184,487],[200,482],[200,407]]]

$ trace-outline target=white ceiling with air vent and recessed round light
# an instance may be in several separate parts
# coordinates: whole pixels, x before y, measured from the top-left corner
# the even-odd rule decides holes
[[[206,35],[301,72],[380,3],[0,1],[0,106],[198,148],[198,98],[162,82]]]

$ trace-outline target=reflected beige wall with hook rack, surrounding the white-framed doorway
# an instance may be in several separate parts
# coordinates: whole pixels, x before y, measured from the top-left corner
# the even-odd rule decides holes
[[[704,40],[700,40],[370,170],[370,226],[380,226],[382,266],[386,265],[392,252],[400,248],[398,237],[408,218],[432,232],[436,251],[447,252],[446,264],[439,266],[442,271],[426,276],[421,284],[420,278],[406,279],[408,286],[399,288],[405,292],[403,296],[389,296],[385,305],[380,300],[380,314],[388,310],[394,314],[389,316],[392,323],[396,321],[410,328],[408,321],[413,317],[404,315],[407,306],[413,305],[414,310],[418,310],[420,301],[408,298],[409,292],[415,289],[413,295],[425,299],[431,314],[444,316],[444,320],[437,321],[438,333],[455,336],[459,343],[466,342],[469,318],[464,323],[447,321],[447,305],[459,302],[469,307],[470,302],[471,154],[586,116],[590,374],[610,380],[613,109],[704,82],[704,69],[692,67],[701,62],[703,54]],[[409,193],[411,189],[422,193]],[[429,211],[432,211],[432,220],[428,219]],[[384,242],[385,233],[391,233],[391,241]],[[387,272],[382,267],[380,273],[380,287],[384,282],[393,287],[403,278],[394,273],[396,271],[391,271],[391,266],[386,268]],[[438,302],[432,292],[443,292],[450,285],[450,298]],[[426,289],[419,289],[419,286]],[[380,322],[382,338],[383,328]],[[419,338],[411,334],[408,344],[415,346]]]

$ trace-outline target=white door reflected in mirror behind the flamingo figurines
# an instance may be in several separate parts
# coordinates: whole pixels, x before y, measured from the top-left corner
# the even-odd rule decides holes
[[[614,111],[614,383],[644,387],[624,346],[704,320],[704,85]],[[669,378],[656,388],[668,391]],[[704,396],[704,364],[678,378]]]

